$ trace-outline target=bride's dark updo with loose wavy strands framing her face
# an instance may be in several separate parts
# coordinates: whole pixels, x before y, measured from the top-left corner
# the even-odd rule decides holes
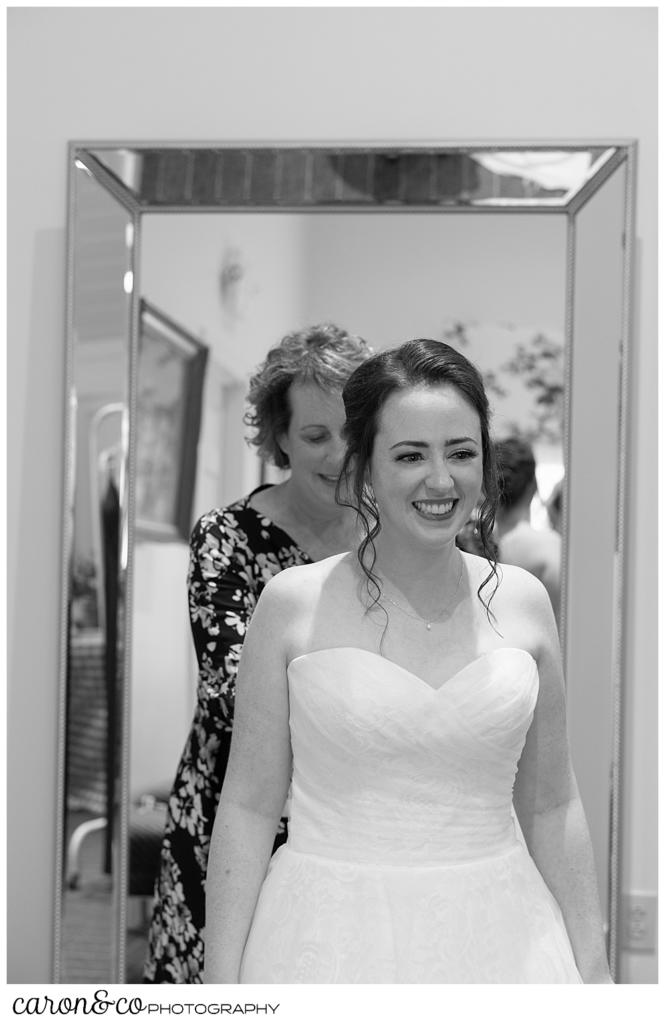
[[[465,401],[475,410],[481,421],[483,503],[479,510],[476,529],[483,554],[490,564],[490,572],[479,587],[477,596],[490,618],[494,617],[490,602],[499,583],[496,549],[492,543],[499,498],[497,465],[494,445],[490,439],[490,406],[483,378],[461,352],[443,341],[420,338],[407,341],[399,348],[379,352],[354,371],[342,391],[346,413],[346,452],[337,484],[337,501],[340,505],[355,509],[363,525],[364,537],[358,549],[358,560],[367,577],[368,592],[376,604],[381,596],[381,588],[373,571],[376,563],[374,541],[381,530],[381,522],[367,480],[379,415],[394,391],[413,387],[439,387],[443,384],[457,388]],[[494,589],[486,601],[482,592],[492,581]]]

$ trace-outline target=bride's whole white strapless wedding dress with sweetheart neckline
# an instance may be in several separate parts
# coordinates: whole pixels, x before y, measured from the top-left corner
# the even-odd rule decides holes
[[[289,666],[289,839],[245,947],[247,983],[581,983],[515,828],[538,693],[500,648],[433,689],[355,647]]]

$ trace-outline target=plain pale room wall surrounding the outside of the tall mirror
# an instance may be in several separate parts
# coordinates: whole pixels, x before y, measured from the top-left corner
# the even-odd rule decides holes
[[[656,18],[609,7],[8,11],[11,981],[50,976],[69,139],[638,139],[626,866],[632,889],[656,889],[641,843],[656,785]],[[653,964],[634,955],[632,977]]]

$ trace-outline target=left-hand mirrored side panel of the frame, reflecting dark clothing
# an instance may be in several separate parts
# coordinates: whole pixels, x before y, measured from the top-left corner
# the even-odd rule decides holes
[[[122,506],[127,447],[133,225],[76,170],[72,503],[63,981],[109,977],[124,659]]]

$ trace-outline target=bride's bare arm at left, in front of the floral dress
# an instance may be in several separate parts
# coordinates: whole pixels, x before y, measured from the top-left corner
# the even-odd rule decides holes
[[[280,573],[280,577],[283,573]],[[228,765],[210,842],[204,981],[236,984],[291,777],[285,624],[289,588],[272,581],[238,670]]]

